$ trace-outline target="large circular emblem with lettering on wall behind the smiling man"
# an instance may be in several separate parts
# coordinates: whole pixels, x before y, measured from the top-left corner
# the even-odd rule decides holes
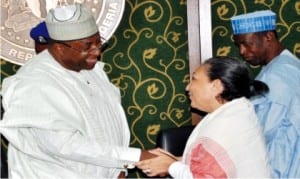
[[[35,56],[29,33],[58,5],[85,4],[94,14],[101,37],[107,41],[117,29],[125,0],[1,0],[1,58],[23,65]]]

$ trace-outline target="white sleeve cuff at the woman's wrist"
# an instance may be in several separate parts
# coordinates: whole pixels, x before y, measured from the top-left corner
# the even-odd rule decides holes
[[[173,178],[193,178],[190,167],[180,161],[172,163],[169,167],[168,172]]]

